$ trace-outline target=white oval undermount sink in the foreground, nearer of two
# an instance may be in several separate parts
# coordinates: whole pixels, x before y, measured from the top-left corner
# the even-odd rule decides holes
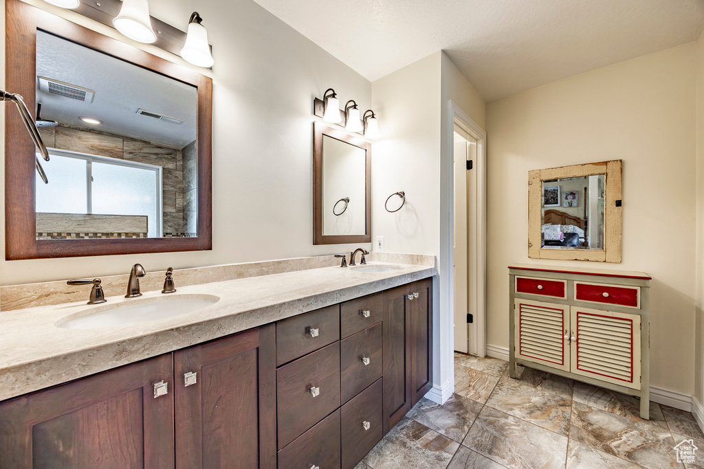
[[[56,326],[64,329],[97,329],[146,323],[191,313],[215,304],[218,300],[220,298],[210,295],[179,295],[156,300],[136,300],[137,303],[122,302],[113,306],[103,304],[67,316]]]

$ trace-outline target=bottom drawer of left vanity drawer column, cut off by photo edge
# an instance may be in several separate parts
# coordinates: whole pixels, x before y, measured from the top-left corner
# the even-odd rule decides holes
[[[278,469],[340,467],[340,411],[334,411],[279,451]]]

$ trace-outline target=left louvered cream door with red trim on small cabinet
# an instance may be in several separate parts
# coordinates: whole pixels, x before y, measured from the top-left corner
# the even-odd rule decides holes
[[[570,371],[570,307],[516,299],[513,314],[516,358]]]

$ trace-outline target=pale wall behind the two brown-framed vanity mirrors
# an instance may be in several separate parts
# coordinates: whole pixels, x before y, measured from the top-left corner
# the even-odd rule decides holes
[[[29,1],[75,15],[41,0]],[[187,0],[151,0],[149,8],[156,18],[182,29],[193,12]],[[213,250],[13,262],[1,256],[0,285],[124,274],[135,262],[156,271],[332,255],[356,247],[313,245],[313,97],[332,87],[341,102],[355,99],[365,110],[372,101],[371,83],[251,0],[210,0],[198,10],[215,58]],[[4,32],[4,23],[0,29]],[[4,63],[2,56],[2,77]],[[386,122],[379,115],[382,131]],[[0,129],[4,132],[4,113]],[[4,205],[0,210],[4,212]],[[4,232],[0,226],[2,246]]]

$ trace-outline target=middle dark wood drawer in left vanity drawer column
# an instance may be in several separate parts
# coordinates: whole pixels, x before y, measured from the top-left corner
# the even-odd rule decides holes
[[[276,378],[281,449],[340,406],[340,342],[282,366]]]

